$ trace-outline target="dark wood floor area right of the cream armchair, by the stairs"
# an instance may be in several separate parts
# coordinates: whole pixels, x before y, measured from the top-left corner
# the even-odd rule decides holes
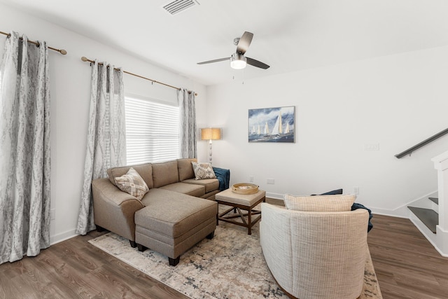
[[[374,215],[372,223],[367,242],[384,298],[448,298],[448,258],[411,221]]]

